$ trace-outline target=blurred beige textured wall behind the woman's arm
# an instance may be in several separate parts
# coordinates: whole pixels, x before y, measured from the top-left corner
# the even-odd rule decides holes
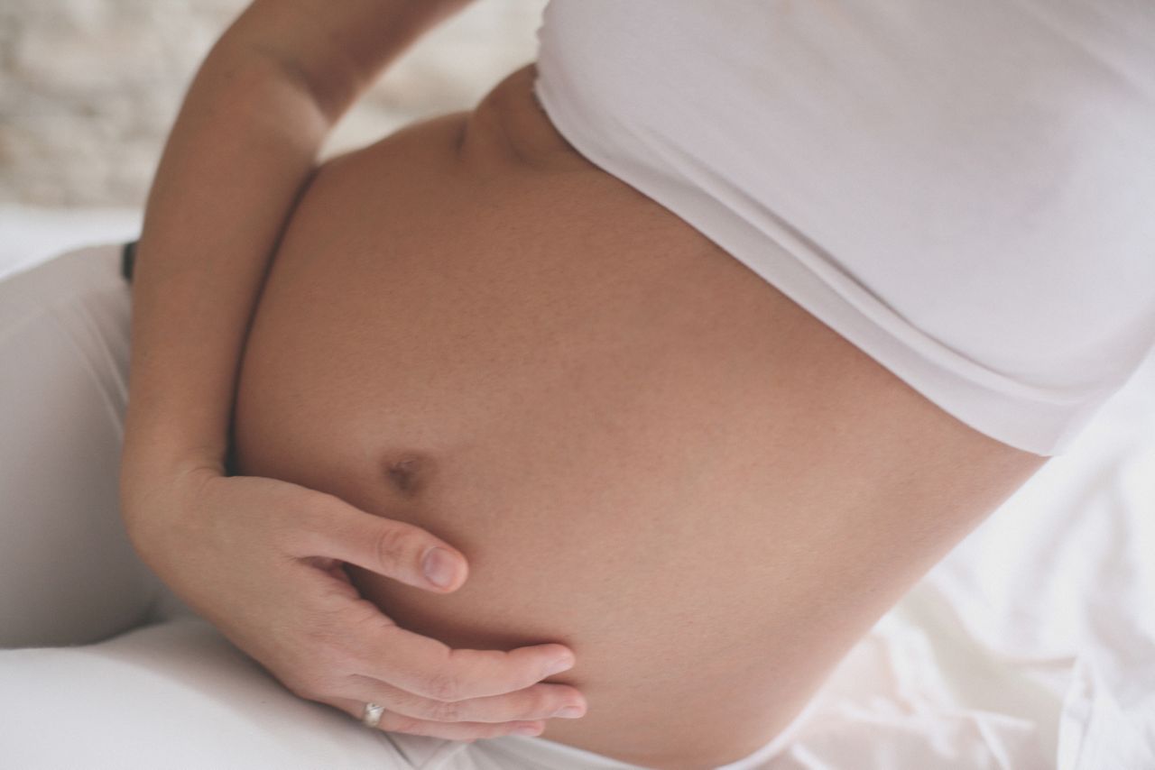
[[[0,0],[0,203],[143,205],[185,89],[246,5]],[[471,106],[532,60],[544,6],[475,0],[385,74],[322,156]]]

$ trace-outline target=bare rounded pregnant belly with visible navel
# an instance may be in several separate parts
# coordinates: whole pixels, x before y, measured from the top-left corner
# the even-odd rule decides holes
[[[254,319],[239,468],[459,547],[350,569],[453,646],[561,642],[545,738],[698,769],[780,732],[1046,461],[957,421],[587,162],[532,65],[325,164]]]

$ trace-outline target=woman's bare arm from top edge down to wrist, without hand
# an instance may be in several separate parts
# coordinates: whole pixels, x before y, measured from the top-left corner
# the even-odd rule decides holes
[[[137,246],[126,473],[223,466],[249,320],[321,143],[377,72],[461,5],[378,2],[377,29],[327,30],[310,3],[258,2],[214,46],[165,144]]]

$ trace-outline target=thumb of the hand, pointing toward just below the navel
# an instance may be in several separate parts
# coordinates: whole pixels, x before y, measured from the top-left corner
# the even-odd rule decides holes
[[[465,556],[419,526],[381,518],[326,495],[311,511],[298,556],[331,556],[415,588],[448,593],[465,582]]]

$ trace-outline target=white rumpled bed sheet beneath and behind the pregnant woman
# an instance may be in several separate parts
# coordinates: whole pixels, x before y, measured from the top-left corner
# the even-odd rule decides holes
[[[0,207],[0,276],[139,226]],[[1155,356],[854,648],[768,767],[1155,769],[1153,615]]]

